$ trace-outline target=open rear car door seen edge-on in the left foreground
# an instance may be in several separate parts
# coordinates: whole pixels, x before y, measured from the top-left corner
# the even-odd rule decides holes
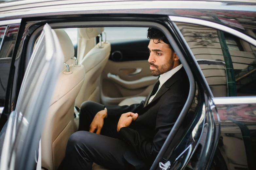
[[[55,32],[46,24],[32,53],[17,105],[0,133],[0,169],[35,169],[45,116],[63,53]],[[41,169],[41,166],[39,167]]]

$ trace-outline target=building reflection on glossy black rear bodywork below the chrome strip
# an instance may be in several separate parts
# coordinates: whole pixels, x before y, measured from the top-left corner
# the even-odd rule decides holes
[[[217,105],[221,124],[218,144],[228,169],[253,169],[256,152],[256,104]],[[249,114],[248,114],[249,113]]]

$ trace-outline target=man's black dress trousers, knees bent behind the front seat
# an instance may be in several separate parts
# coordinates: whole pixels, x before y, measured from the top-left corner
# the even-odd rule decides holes
[[[134,169],[123,156],[128,146],[117,139],[119,119],[105,119],[100,135],[88,132],[100,110],[104,110],[104,105],[95,102],[86,101],[81,105],[78,131],[69,137],[59,170],[91,170],[93,163],[110,170]]]

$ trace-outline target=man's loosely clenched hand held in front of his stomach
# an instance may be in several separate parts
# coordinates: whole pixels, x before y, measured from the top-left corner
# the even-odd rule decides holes
[[[133,120],[136,120],[137,117],[138,117],[138,113],[128,112],[128,113],[122,114],[117,124],[117,132],[119,132],[122,127],[130,126],[131,122]]]

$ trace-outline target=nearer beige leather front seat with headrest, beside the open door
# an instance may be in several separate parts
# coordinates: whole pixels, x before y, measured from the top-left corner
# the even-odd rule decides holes
[[[74,56],[73,44],[62,29],[55,30],[67,62]],[[70,65],[69,72],[63,70],[59,75],[51,105],[48,109],[41,142],[42,167],[56,170],[65,156],[70,135],[77,131],[74,122],[74,105],[78,92],[84,82],[84,66]]]

